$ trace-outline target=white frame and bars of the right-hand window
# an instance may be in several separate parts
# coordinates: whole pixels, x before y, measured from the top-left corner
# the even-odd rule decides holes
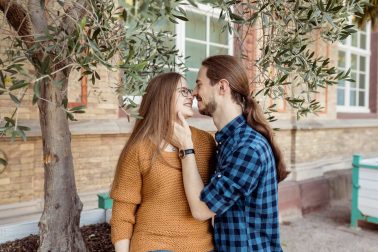
[[[360,33],[361,30],[358,29],[357,35],[358,39],[360,39]],[[359,74],[360,69],[359,69],[359,58],[365,57],[366,58],[366,64],[365,64],[365,104],[364,106],[359,106],[358,102],[356,101],[356,106],[351,106],[350,104],[350,82],[345,82],[345,86],[343,88],[344,90],[344,104],[346,105],[337,105],[337,100],[338,100],[338,90],[339,86],[336,88],[336,111],[338,113],[370,113],[370,108],[369,108],[369,89],[370,89],[370,57],[371,57],[371,22],[368,22],[366,24],[366,31],[364,31],[365,36],[366,36],[366,49],[362,49],[360,45],[359,47],[352,46],[352,36],[349,36],[345,40],[345,44],[342,44],[341,42],[338,43],[338,54],[337,54],[337,62],[339,61],[339,52],[344,52],[345,53],[345,67],[344,70],[351,68],[352,64],[352,54],[357,56],[357,61],[358,61],[358,66],[357,66],[357,72],[356,72],[356,84],[358,84],[358,79],[359,79]],[[359,42],[358,42],[359,43]],[[337,66],[339,68],[339,65]],[[356,92],[357,92],[357,97],[358,97],[358,92],[359,92],[359,87],[356,85]]]

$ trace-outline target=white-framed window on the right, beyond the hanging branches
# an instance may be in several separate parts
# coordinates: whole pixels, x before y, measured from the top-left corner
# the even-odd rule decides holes
[[[370,23],[339,45],[338,69],[351,69],[356,82],[340,81],[337,87],[338,112],[369,113]]]

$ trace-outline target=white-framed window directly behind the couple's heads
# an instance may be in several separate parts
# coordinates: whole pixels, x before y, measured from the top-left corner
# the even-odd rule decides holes
[[[188,22],[176,24],[176,46],[185,59],[189,71],[185,73],[188,85],[194,88],[202,60],[217,54],[232,54],[232,36],[222,32],[225,22],[218,20],[219,11],[206,5],[187,7]]]

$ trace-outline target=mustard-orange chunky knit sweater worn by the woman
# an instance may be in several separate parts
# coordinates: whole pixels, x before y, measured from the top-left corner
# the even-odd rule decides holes
[[[214,168],[215,142],[205,131],[191,131],[198,170],[206,184]],[[212,250],[210,220],[198,221],[191,215],[178,152],[162,152],[151,166],[152,148],[145,141],[120,156],[110,194],[112,242],[130,239],[130,252]]]

